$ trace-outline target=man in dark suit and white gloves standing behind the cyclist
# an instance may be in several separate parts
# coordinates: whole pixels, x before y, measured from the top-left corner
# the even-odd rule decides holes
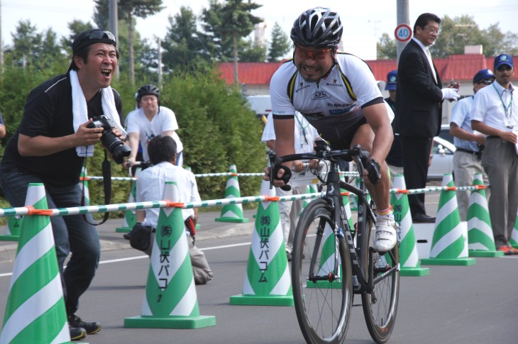
[[[456,100],[458,89],[442,88],[429,46],[439,36],[441,18],[423,13],[414,24],[414,37],[401,52],[397,67],[396,116],[399,120],[404,181],[408,189],[426,187],[434,136],[441,130],[443,99]],[[434,222],[426,215],[424,194],[409,195],[414,222]]]

